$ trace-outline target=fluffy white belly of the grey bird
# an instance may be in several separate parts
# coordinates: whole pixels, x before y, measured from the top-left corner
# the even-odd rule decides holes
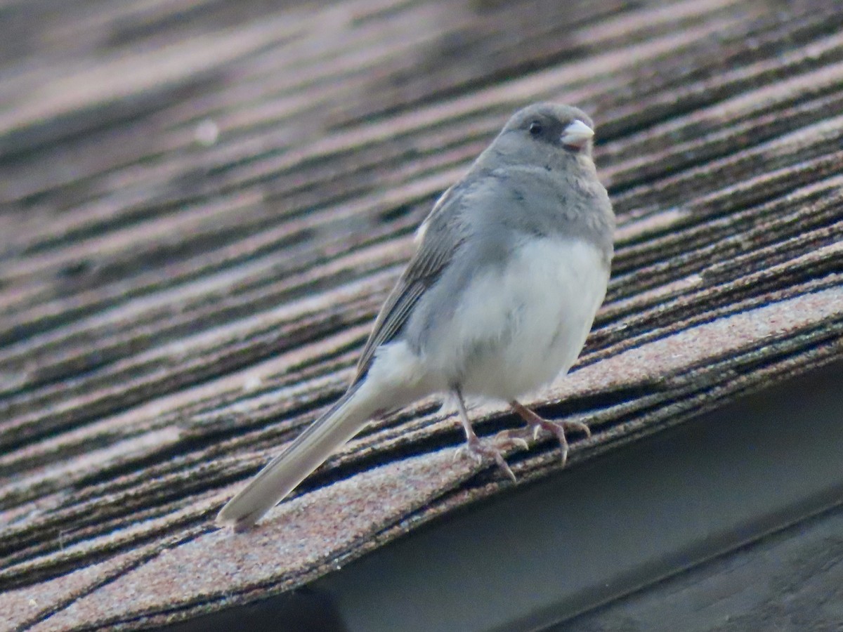
[[[470,283],[423,362],[446,374],[459,367],[466,395],[508,401],[533,392],[577,360],[608,280],[591,244],[536,240],[503,276],[496,270]]]

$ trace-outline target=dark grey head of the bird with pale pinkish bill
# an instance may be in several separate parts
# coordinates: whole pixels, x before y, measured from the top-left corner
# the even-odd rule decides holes
[[[571,105],[536,103],[518,110],[487,150],[483,162],[545,164],[591,162],[594,124]]]

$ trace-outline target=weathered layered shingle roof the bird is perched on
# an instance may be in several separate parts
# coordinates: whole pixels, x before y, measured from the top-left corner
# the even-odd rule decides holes
[[[0,3],[2,629],[190,618],[506,493],[425,401],[254,531],[210,522],[341,394],[412,230],[534,100],[593,115],[619,220],[534,402],[593,428],[569,467],[843,356],[835,0],[282,4]]]

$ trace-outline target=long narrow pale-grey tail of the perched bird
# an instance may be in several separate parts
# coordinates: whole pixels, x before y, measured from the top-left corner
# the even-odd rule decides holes
[[[371,389],[353,386],[217,514],[217,524],[248,528],[354,437],[377,407]]]

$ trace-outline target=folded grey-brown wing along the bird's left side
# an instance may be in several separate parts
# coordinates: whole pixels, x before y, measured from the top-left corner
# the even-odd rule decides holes
[[[357,362],[357,375],[352,384],[359,382],[372,365],[374,352],[395,338],[410,318],[419,297],[431,287],[462,240],[458,225],[460,205],[459,185],[446,190],[421,224],[421,244],[416,249],[404,273],[389,292],[384,306],[374,321],[362,355]]]

